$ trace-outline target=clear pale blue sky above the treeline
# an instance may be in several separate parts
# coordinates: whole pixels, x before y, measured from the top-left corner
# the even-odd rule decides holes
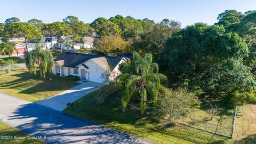
[[[109,19],[116,14],[135,19],[149,18],[159,22],[164,18],[178,20],[182,27],[195,22],[212,25],[218,14],[225,10],[245,12],[256,9],[255,0],[43,0],[43,1],[1,1],[0,22],[17,17],[21,21],[41,19],[45,23],[62,21],[67,15],[74,15],[85,23],[98,17]]]

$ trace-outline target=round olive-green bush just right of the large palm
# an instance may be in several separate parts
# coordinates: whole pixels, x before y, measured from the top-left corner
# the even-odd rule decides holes
[[[196,105],[199,105],[197,97],[187,89],[181,87],[177,91],[165,89],[159,94],[156,115],[175,124],[181,116],[188,116],[191,107]]]

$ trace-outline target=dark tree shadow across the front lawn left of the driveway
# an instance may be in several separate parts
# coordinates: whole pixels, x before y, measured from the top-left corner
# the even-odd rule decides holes
[[[46,74],[45,78],[39,78],[39,71],[37,74],[30,74],[29,72],[14,74],[12,76],[19,77],[14,81],[0,84],[2,89],[11,88],[22,90],[19,93],[34,94],[38,92],[47,91],[63,91],[73,86],[78,85],[73,78],[60,77],[58,75]],[[52,85],[50,78],[52,78]],[[31,81],[31,83],[29,83]]]

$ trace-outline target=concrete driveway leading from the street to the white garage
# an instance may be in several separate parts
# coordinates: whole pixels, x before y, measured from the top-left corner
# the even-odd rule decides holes
[[[72,87],[71,89],[68,89],[66,91],[63,91],[53,96],[52,98],[37,101],[35,103],[55,110],[63,111],[67,107],[67,103],[74,102],[84,97],[84,95],[93,92],[102,85],[100,83],[94,82],[78,81],[78,83],[81,84]]]

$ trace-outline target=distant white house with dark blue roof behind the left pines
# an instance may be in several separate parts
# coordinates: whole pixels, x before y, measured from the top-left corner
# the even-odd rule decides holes
[[[45,49],[52,49],[53,46],[55,48],[59,47],[58,39],[54,37],[42,37],[39,45],[42,45]]]

